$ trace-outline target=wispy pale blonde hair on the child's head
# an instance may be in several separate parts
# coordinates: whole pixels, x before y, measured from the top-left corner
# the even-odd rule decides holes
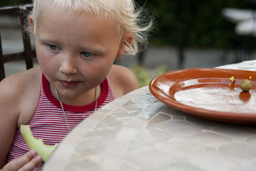
[[[144,10],[138,8],[134,0],[34,0],[33,10],[31,11],[35,24],[34,28],[40,15],[40,7],[46,1],[56,9],[112,17],[116,21],[121,38],[124,38],[127,33],[131,33],[133,36],[131,45],[124,42],[124,47],[122,47],[129,55],[134,55],[138,50],[147,46],[147,33],[152,26],[152,20],[148,22],[145,17],[143,18]]]

